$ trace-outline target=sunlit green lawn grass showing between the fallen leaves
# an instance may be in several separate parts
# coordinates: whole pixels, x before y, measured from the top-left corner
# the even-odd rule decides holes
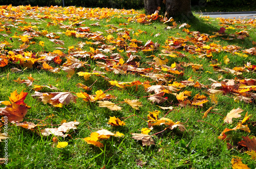
[[[25,9],[23,9],[26,11]],[[48,10],[52,10],[49,9]],[[9,10],[8,10],[9,11]],[[72,10],[70,10],[72,13]],[[77,13],[81,11],[73,11]],[[110,10],[111,11],[111,10]],[[40,13],[40,11],[37,11]],[[44,11],[42,11],[44,12]],[[57,8],[56,11],[52,10],[52,15],[55,15],[58,12],[61,15],[62,8]],[[96,15],[95,12],[94,15]],[[41,14],[43,15],[43,14]],[[66,14],[69,15],[69,14]],[[121,15],[121,18],[113,17],[115,15]],[[152,73],[167,73],[166,71],[161,71],[161,67],[149,66],[146,62],[153,62],[153,57],[155,55],[158,57],[158,54],[162,53],[161,50],[164,49],[163,46],[167,46],[165,41],[171,40],[171,37],[175,38],[192,38],[193,35],[187,35],[183,32],[183,28],[167,30],[166,27],[168,24],[163,24],[159,20],[152,21],[151,24],[145,25],[140,24],[136,21],[129,22],[126,17],[134,17],[136,15],[123,15],[123,14],[114,14],[110,15],[107,18],[102,18],[98,20],[82,19],[79,18],[78,21],[84,21],[82,25],[73,25],[70,26],[69,30],[74,30],[76,27],[91,27],[90,33],[97,31],[102,32],[102,36],[107,37],[109,34],[105,30],[111,29],[111,26],[114,25],[118,28],[122,28],[119,32],[129,32],[131,39],[137,39],[142,41],[141,46],[144,46],[148,40],[152,40],[154,43],[159,43],[160,47],[154,51],[143,52],[141,49],[137,53],[132,53],[133,55],[140,55],[141,59],[135,59],[135,62],[139,62],[139,68],[153,68]],[[27,16],[28,17],[28,16]],[[19,46],[23,43],[18,41],[19,38],[13,38],[11,41],[9,38],[14,36],[15,33],[17,36],[22,35],[24,31],[19,30],[17,27],[4,26],[3,24],[8,22],[13,23],[17,22],[15,20],[2,20],[2,29],[1,33],[7,34],[6,30],[10,29],[8,37],[1,36],[0,41],[3,43],[4,40],[11,43],[9,47],[5,47],[2,50],[2,54],[9,52],[14,49],[18,49]],[[41,32],[42,30],[47,30],[49,33],[56,32],[66,32],[67,29],[61,29],[60,25],[51,25],[47,26],[48,22],[53,22],[51,18],[45,18],[40,20],[25,18],[27,23],[29,22],[39,22],[41,24],[37,25],[35,31]],[[108,22],[107,22],[108,21]],[[74,18],[70,20],[64,20],[62,23],[65,25],[71,25],[76,22]],[[91,26],[91,23],[99,22],[100,26]],[[119,23],[129,23],[128,25],[119,25]],[[178,23],[178,26],[181,23]],[[199,31],[198,34],[209,34],[212,36],[212,32],[218,32],[220,27],[224,23],[221,23],[220,20],[214,18],[204,18],[196,16],[193,21],[188,22],[191,27],[188,28],[190,32]],[[226,24],[226,23],[225,23]],[[247,23],[245,23],[247,24]],[[254,25],[253,25],[254,24]],[[24,26],[27,24],[19,23],[17,26]],[[172,23],[169,23],[172,25]],[[242,23],[228,24],[232,27],[234,25],[243,25]],[[113,27],[113,26],[112,26]],[[7,29],[5,29],[7,28]],[[138,30],[145,31],[146,33],[139,34],[138,36],[134,33]],[[242,50],[255,47],[253,41],[256,41],[256,29],[255,21],[254,23],[247,24],[247,30],[249,37],[245,39],[233,39],[225,40],[231,38],[230,34],[236,34],[243,29],[227,29],[224,36],[217,36],[209,38],[208,41],[203,42],[206,45],[211,43],[219,44],[221,47],[228,45],[237,45],[241,49],[238,51],[242,53]],[[154,37],[157,33],[160,33],[160,36]],[[60,36],[58,40],[65,42],[63,45],[66,49],[60,49],[66,54],[68,53],[68,47],[74,46],[78,47],[78,42],[94,42],[88,38],[76,38],[74,36],[66,36],[65,34],[57,34]],[[112,34],[114,39],[118,38],[117,32]],[[34,41],[35,44],[29,44],[30,46],[25,49],[25,51],[32,51],[34,54],[37,52],[52,52],[56,50],[55,47],[60,47],[59,44],[54,44],[48,40],[49,38],[39,36],[34,37],[30,41]],[[45,46],[39,46],[39,41],[44,41]],[[110,43],[108,40],[102,40],[102,44],[106,45],[115,45]],[[131,42],[125,40],[127,44]],[[86,44],[82,47],[82,50],[90,51],[90,47],[93,47],[95,50],[100,48],[99,45]],[[193,42],[185,42],[184,44],[195,45]],[[117,52],[122,55],[124,61],[126,62],[129,58],[127,57],[126,50],[120,52],[122,47],[116,47],[113,50],[113,53]],[[172,74],[173,76],[166,77],[167,80],[159,79],[158,81],[151,79],[150,77],[143,77],[141,73],[133,73],[131,71],[125,72],[125,74],[115,74],[113,71],[107,71],[103,68],[97,66],[96,61],[106,62],[105,60],[93,60],[90,57],[87,58],[78,58],[81,61],[87,61],[87,64],[90,66],[84,66],[75,69],[75,74],[71,77],[67,77],[67,73],[60,71],[59,73],[51,73],[49,71],[37,68],[37,66],[42,65],[42,61],[38,61],[33,65],[33,68],[28,68],[25,70],[25,66],[19,65],[19,63],[9,62],[7,66],[0,68],[0,100],[5,101],[9,100],[8,96],[17,90],[18,93],[21,91],[28,92],[25,103],[27,103],[31,108],[28,110],[27,115],[23,121],[33,122],[38,124],[43,121],[43,123],[48,124],[42,128],[52,128],[61,124],[62,120],[77,121],[80,124],[77,125],[77,129],[70,130],[65,138],[57,137],[59,142],[68,142],[69,145],[66,148],[58,149],[56,146],[53,146],[53,135],[42,136],[36,132],[39,129],[35,128],[33,130],[28,130],[22,127],[16,127],[14,124],[9,123],[8,125],[8,155],[9,161],[8,164],[0,165],[1,168],[100,168],[105,166],[106,168],[231,168],[231,159],[232,158],[241,158],[243,163],[247,164],[249,167],[253,168],[255,161],[250,159],[250,156],[246,154],[244,149],[237,149],[236,146],[238,142],[241,141],[242,136],[255,135],[255,127],[253,123],[246,123],[250,128],[251,132],[247,133],[243,130],[229,131],[227,132],[229,140],[223,141],[218,139],[218,136],[225,128],[235,127],[239,121],[241,121],[245,113],[248,111],[248,115],[252,115],[249,122],[255,121],[254,116],[254,107],[255,101],[252,100],[251,103],[246,103],[244,101],[235,101],[234,94],[227,93],[225,95],[217,95],[218,104],[211,103],[209,95],[206,94],[207,89],[211,88],[212,81],[208,80],[212,78],[217,81],[222,81],[224,79],[236,79],[241,80],[243,78],[255,78],[254,71],[249,70],[248,72],[242,72],[242,74],[235,75],[223,71],[216,71],[210,64],[219,63],[221,69],[229,68],[233,69],[234,67],[244,67],[247,62],[251,62],[252,65],[256,65],[254,55],[248,54],[247,58],[240,57],[238,54],[234,54],[232,51],[221,51],[221,52],[212,52],[211,58],[198,58],[199,53],[189,53],[183,50],[182,47],[179,49],[174,49],[172,51],[179,51],[185,54],[185,57],[166,57],[168,62],[167,66],[171,66],[173,63],[176,63],[176,68],[181,67],[184,75],[178,76],[177,74]],[[92,53],[91,53],[92,54]],[[103,53],[110,56],[110,53]],[[178,55],[178,54],[177,54]],[[224,63],[224,57],[230,59],[229,63],[226,65]],[[163,58],[163,56],[161,57]],[[66,62],[65,58],[62,58],[62,63]],[[202,68],[194,71],[191,66],[184,66],[184,63],[193,63],[200,64]],[[48,62],[52,67],[59,67],[53,63],[53,61]],[[23,72],[11,73],[11,68],[19,68],[24,70]],[[179,92],[182,91],[191,91],[191,96],[188,97],[189,100],[193,100],[196,94],[204,95],[209,100],[207,103],[204,103],[203,106],[193,106],[188,105],[185,107],[179,106],[179,101],[177,100],[174,94],[165,94],[164,97],[167,97],[167,101],[163,103],[152,103],[147,100],[149,93],[144,90],[142,85],[133,87],[126,87],[125,89],[118,88],[116,86],[110,85],[108,80],[105,80],[103,77],[91,75],[88,80],[84,80],[82,76],[78,76],[77,72],[93,72],[93,70],[105,72],[104,76],[110,78],[111,80],[117,80],[119,82],[129,82],[139,80],[140,82],[150,81],[151,85],[168,85],[172,84],[175,81],[180,82],[187,80],[190,76],[192,79],[197,80],[206,86],[206,88],[195,88],[193,86],[187,86],[181,88]],[[9,76],[7,77],[7,74]],[[54,107],[51,104],[44,104],[36,98],[31,97],[34,94],[33,86],[27,87],[25,84],[18,84],[13,80],[17,78],[27,79],[27,77],[32,74],[32,77],[35,79],[33,85],[53,85],[60,89],[59,91],[54,91],[48,88],[43,88],[39,92],[74,92],[79,93],[80,91],[87,92],[89,95],[94,95],[96,91],[102,90],[105,91],[105,94],[111,94],[116,96],[117,99],[111,100],[112,102],[121,106],[121,110],[112,111],[106,107],[99,107],[97,102],[85,102],[82,98],[77,98],[77,103],[70,103],[68,105],[63,105],[63,107]],[[171,73],[169,73],[171,74]],[[220,76],[223,76],[222,79],[218,80]],[[95,82],[95,83],[94,83]],[[91,91],[85,91],[83,89],[77,88],[77,83],[83,83],[84,85],[91,86]],[[220,90],[220,88],[217,88]],[[255,89],[255,88],[254,88]],[[250,92],[254,92],[254,89]],[[76,94],[74,94],[76,95]],[[142,107],[139,110],[133,109],[130,105],[123,103],[123,99],[139,99],[142,102]],[[5,107],[4,105],[1,105]],[[174,110],[168,112],[168,110],[160,109],[158,106],[174,106]],[[211,109],[211,112],[208,113],[207,118],[202,119],[204,111],[209,107],[214,106],[214,109]],[[244,111],[241,113],[241,117],[238,119],[233,119],[232,124],[226,124],[223,122],[223,118],[227,113],[233,108],[242,108]],[[174,130],[165,130],[167,126],[156,126],[150,132],[154,134],[160,132],[159,134],[153,135],[155,145],[151,146],[142,146],[140,140],[135,140],[132,138],[131,133],[140,133],[142,128],[147,128],[148,111],[159,110],[159,118],[164,117],[173,120],[174,122],[180,121],[185,123],[187,131],[180,131],[178,128]],[[212,113],[215,112],[215,113]],[[168,113],[167,113],[168,112]],[[217,114],[218,113],[218,114]],[[47,118],[50,115],[54,115],[51,118]],[[132,116],[137,115],[137,116]],[[222,115],[222,116],[221,116]],[[118,117],[121,120],[126,119],[125,126],[111,126],[108,124],[110,117]],[[224,116],[224,117],[223,117]],[[140,118],[139,118],[140,117]],[[142,119],[141,119],[142,118]],[[3,127],[2,127],[3,128]],[[97,131],[97,129],[106,129],[111,132],[119,131],[124,134],[123,137],[110,137],[109,139],[102,140],[101,143],[104,145],[102,148],[98,148],[93,145],[87,144],[83,138],[89,137],[91,132]],[[3,130],[2,130],[3,132]],[[3,140],[2,140],[3,141]],[[234,149],[228,150],[227,144],[230,143],[234,146]],[[1,152],[0,156],[4,155],[4,142],[0,144]]]

